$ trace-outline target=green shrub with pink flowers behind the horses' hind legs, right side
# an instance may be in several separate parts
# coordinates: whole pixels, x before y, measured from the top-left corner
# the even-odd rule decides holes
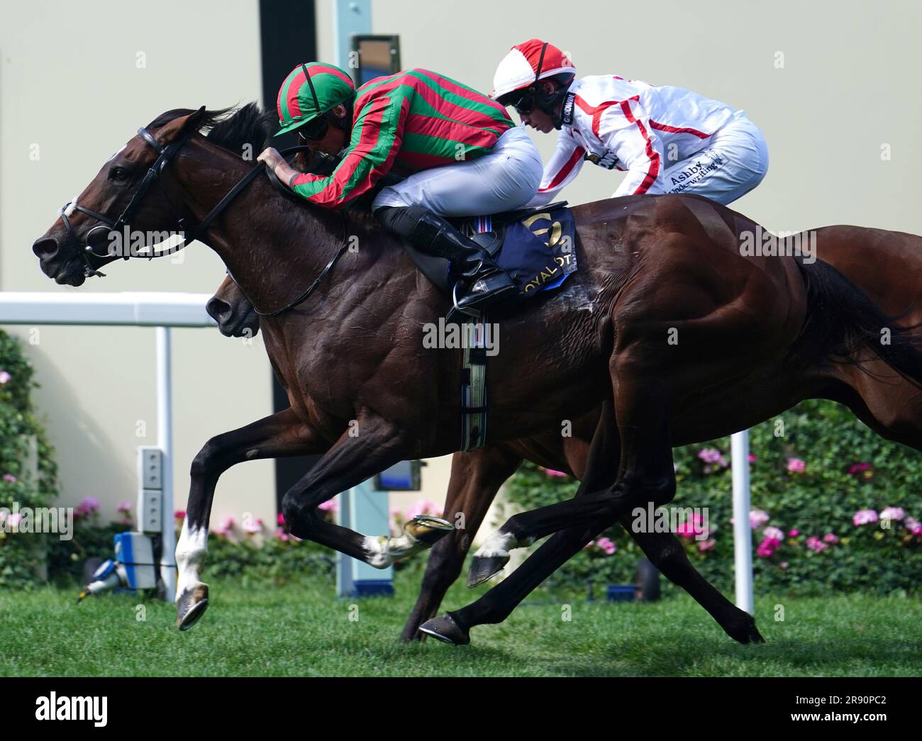
[[[729,438],[673,453],[678,491],[670,506],[707,508],[711,528],[707,550],[691,537],[681,540],[695,568],[727,592],[733,584]],[[757,594],[774,589],[900,594],[916,588],[922,535],[907,529],[914,517],[922,519],[922,468],[916,451],[883,440],[843,406],[808,401],[752,429],[751,453],[752,509],[769,518],[752,532]],[[572,479],[530,464],[506,487],[508,498],[526,510],[568,499],[575,490]],[[881,522],[853,523],[856,512],[888,507],[904,510],[904,518],[892,520],[889,529]],[[784,537],[762,545],[765,529],[774,527]],[[798,535],[789,537],[791,531]],[[613,555],[597,545],[589,547],[547,584],[583,588],[587,579],[632,582],[640,549],[621,526],[603,535],[616,544]],[[824,541],[826,536],[833,542]],[[816,549],[808,547],[810,538],[817,539],[810,540]]]

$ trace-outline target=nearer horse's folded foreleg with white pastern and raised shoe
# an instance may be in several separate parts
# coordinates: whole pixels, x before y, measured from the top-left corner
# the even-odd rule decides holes
[[[285,493],[282,513],[294,535],[384,569],[396,559],[431,547],[452,531],[452,525],[438,517],[420,517],[407,524],[404,535],[392,538],[362,535],[317,516],[318,505],[413,455],[412,441],[391,422],[372,416],[356,421],[355,429],[361,433],[353,437],[350,428],[342,434]]]

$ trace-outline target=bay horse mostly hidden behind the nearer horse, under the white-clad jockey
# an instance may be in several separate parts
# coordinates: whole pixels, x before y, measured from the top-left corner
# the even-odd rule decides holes
[[[922,305],[916,298],[917,287],[922,285],[922,241],[909,234],[897,235],[899,238],[894,239],[892,232],[862,227],[823,227],[812,231],[823,260],[864,290],[883,311],[897,314],[910,307],[901,323],[909,323],[913,328],[922,323]],[[221,283],[208,302],[208,310],[225,335],[252,336],[259,330],[258,317],[230,278]],[[828,363],[809,387],[801,384],[804,398],[838,401],[883,437],[922,450],[922,408],[918,404],[916,386],[902,376],[881,379],[883,368],[862,366],[858,364],[860,357],[854,360],[857,362]],[[873,363],[874,359],[870,361]],[[881,363],[880,360],[876,362]],[[786,372],[786,366],[781,364],[771,375],[784,379]],[[401,640],[425,637],[420,626],[436,617],[444,594],[461,573],[467,550],[493,498],[523,460],[564,471],[577,479],[584,476],[586,455],[598,417],[598,412],[593,411],[575,420],[573,435],[569,437],[562,436],[559,430],[551,430],[527,440],[454,454],[443,516],[457,522],[460,513],[465,527],[455,529],[432,547],[420,594]],[[656,568],[691,594],[728,635],[748,635],[745,617],[698,574],[673,535],[638,534],[627,526],[628,523],[624,524],[625,531],[632,535]],[[473,585],[478,581],[482,579],[475,570],[468,583]],[[502,618],[503,610],[513,606],[508,602],[502,607],[494,606],[498,611],[491,616],[491,622]]]

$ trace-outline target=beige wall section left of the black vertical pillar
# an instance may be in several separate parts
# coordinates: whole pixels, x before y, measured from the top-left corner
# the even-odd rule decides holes
[[[260,97],[258,6],[160,0],[4,3],[0,24],[0,288],[74,291],[43,276],[31,242],[140,125],[171,108],[219,108]],[[146,67],[136,66],[137,53]],[[39,159],[30,159],[38,145]],[[79,290],[210,293],[224,276],[204,245],[167,260],[111,265]],[[27,336],[28,328],[7,328]],[[210,436],[271,412],[261,341],[173,330],[176,505]],[[156,444],[154,330],[41,327],[29,347],[41,413],[57,447],[65,503],[94,496],[104,514],[136,498],[135,449]],[[138,421],[147,437],[136,437]],[[273,464],[231,469],[215,514],[275,516]]]

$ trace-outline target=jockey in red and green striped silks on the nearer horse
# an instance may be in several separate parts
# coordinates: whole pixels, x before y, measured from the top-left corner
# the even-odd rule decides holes
[[[339,208],[388,172],[372,212],[420,252],[451,261],[459,309],[482,309],[517,293],[512,278],[444,217],[524,206],[538,190],[538,149],[502,105],[426,69],[378,77],[358,92],[334,65],[299,65],[278,91],[279,134],[297,131],[314,150],[340,155],[329,176],[292,169],[267,148],[259,160],[315,206]],[[345,147],[345,148],[344,148]]]

